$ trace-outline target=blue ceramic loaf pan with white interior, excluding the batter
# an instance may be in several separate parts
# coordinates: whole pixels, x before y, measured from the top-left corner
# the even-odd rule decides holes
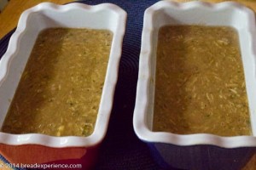
[[[245,72],[252,136],[221,137],[208,133],[180,135],[154,132],[154,78],[161,26],[231,26],[238,31]],[[256,146],[256,30],[252,10],[239,3],[174,3],[160,1],[144,13],[137,98],[133,125],[163,167],[236,169]],[[239,162],[239,163],[238,163]]]

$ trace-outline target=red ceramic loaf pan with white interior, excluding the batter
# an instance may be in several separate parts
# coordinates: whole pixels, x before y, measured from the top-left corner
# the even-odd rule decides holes
[[[106,29],[113,32],[113,42],[94,132],[88,137],[0,133],[0,151],[3,156],[12,163],[79,160],[83,161],[83,169],[90,167],[108,128],[118,78],[126,15],[122,8],[111,3],[96,6],[83,3],[40,3],[21,14],[17,29],[10,38],[7,52],[0,61],[0,127],[40,31],[52,27]]]

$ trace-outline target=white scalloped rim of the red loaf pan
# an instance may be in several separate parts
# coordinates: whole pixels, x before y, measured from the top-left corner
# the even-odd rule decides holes
[[[113,94],[117,83],[119,71],[119,59],[122,52],[122,42],[125,36],[125,25],[127,14],[124,9],[113,3],[101,3],[97,5],[87,5],[84,3],[69,3],[65,5],[58,5],[55,3],[39,3],[37,6],[27,9],[20,15],[20,20],[16,31],[9,41],[9,46],[3,58],[0,60],[0,86],[5,79],[9,76],[9,65],[15,58],[15,53],[18,50],[20,38],[28,27],[28,20],[32,14],[44,13],[52,11],[54,13],[68,13],[72,9],[80,9],[86,12],[96,14],[102,10],[109,10],[118,16],[118,23],[116,31],[113,32],[112,48],[108,60],[108,70],[102,91],[102,99],[108,102],[100,104],[100,110],[96,118],[96,126],[94,132],[88,137],[53,137],[40,133],[27,133],[27,134],[10,134],[0,132],[0,143],[10,145],[20,144],[40,144],[44,146],[62,148],[62,147],[90,147],[96,146],[102,142],[108,129],[108,121],[113,105]],[[106,88],[106,89],[105,89]],[[102,109],[101,109],[102,108]]]

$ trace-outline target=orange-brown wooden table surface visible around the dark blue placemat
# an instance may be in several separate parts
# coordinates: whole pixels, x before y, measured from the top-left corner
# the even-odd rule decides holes
[[[176,2],[189,2],[192,0],[173,0]],[[202,0],[210,3],[224,2],[225,0]],[[26,8],[31,8],[38,3],[52,2],[57,4],[70,3],[72,0],[10,0],[8,5],[3,8],[2,13],[0,13],[0,39],[6,35],[9,31],[13,30],[17,26],[20,14],[26,10]],[[234,0],[234,2],[242,3],[248,8],[252,8],[256,11],[256,0]],[[0,160],[0,164],[2,161]],[[254,155],[247,165],[243,167],[242,170],[254,170],[256,168],[256,155]],[[8,169],[8,168],[3,168]]]

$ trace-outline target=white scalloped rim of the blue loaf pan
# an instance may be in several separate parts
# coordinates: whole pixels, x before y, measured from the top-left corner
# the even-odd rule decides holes
[[[220,10],[224,8],[233,8],[234,10],[242,11],[247,14],[247,19],[250,21],[248,31],[252,37],[250,43],[250,54],[253,55],[253,65],[255,67],[255,18],[254,13],[251,9],[242,6],[240,3],[224,2],[224,3],[205,3],[205,2],[189,2],[189,3],[174,3],[170,1],[160,1],[154,3],[151,7],[147,8],[144,13],[143,23],[143,36],[142,36],[142,48],[139,61],[139,74],[137,82],[137,97],[136,105],[133,117],[133,126],[135,133],[139,139],[148,143],[164,143],[164,144],[175,144],[179,146],[191,146],[198,144],[211,144],[222,148],[238,148],[238,147],[253,147],[256,146],[256,138],[254,136],[234,136],[234,137],[222,137],[208,133],[194,133],[194,134],[175,134],[166,132],[153,132],[149,129],[147,124],[148,114],[148,92],[150,83],[150,57],[152,55],[152,31],[153,26],[153,15],[154,12],[158,13],[163,8],[170,10],[188,10],[203,8],[204,10]],[[164,10],[164,9],[163,9]],[[254,38],[253,38],[254,37]],[[255,78],[255,68],[253,70],[253,78]],[[253,80],[254,81],[254,80]],[[254,90],[255,91],[255,90]],[[252,102],[251,102],[252,104]],[[250,111],[253,135],[255,135],[255,121],[252,116],[255,117],[256,111]]]

